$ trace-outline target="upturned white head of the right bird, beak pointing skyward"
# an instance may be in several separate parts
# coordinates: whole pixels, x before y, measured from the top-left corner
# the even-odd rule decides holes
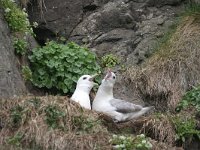
[[[101,81],[101,84],[104,86],[113,87],[115,84],[115,81],[116,81],[116,75],[114,74],[114,72],[108,70],[106,76]]]

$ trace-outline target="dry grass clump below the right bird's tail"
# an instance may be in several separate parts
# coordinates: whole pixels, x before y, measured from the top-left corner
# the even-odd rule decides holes
[[[147,117],[140,117],[137,120],[113,125],[115,130],[123,131],[129,129],[129,133],[145,134],[157,142],[165,143],[168,146],[175,145],[175,129],[170,120],[170,114],[153,114]],[[124,132],[124,131],[123,131]]]

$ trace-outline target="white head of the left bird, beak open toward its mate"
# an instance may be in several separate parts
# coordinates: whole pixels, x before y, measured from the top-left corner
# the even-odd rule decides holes
[[[96,77],[97,75],[83,75],[81,76],[76,84],[76,89],[85,91],[90,93],[91,89],[93,88],[93,86],[96,84],[93,80],[94,77]]]

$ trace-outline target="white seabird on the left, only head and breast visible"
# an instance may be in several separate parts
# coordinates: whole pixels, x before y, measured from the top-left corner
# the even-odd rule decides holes
[[[91,110],[90,91],[96,84],[93,79],[96,75],[83,75],[79,78],[76,84],[76,89],[70,98],[72,101],[79,103],[82,107]]]

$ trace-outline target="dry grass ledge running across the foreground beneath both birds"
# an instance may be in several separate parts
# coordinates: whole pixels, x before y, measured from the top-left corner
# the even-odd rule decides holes
[[[57,106],[65,114],[57,117],[55,127],[50,127],[45,119],[49,106]],[[116,124],[110,117],[82,109],[66,97],[21,97],[0,101],[0,145],[5,149],[111,150],[109,139],[113,133],[145,133],[156,140],[151,140],[153,150],[176,149],[173,147],[174,129],[164,115],[149,115]]]

